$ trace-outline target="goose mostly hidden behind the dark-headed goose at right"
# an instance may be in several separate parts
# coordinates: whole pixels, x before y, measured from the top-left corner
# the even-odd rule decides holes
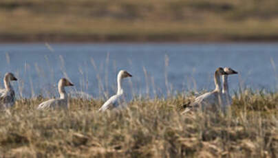
[[[226,72],[227,75],[223,75],[222,76],[222,82],[223,82],[223,107],[222,110],[226,111],[228,106],[231,106],[232,104],[232,98],[231,95],[228,91],[228,75],[233,75],[233,74],[237,74],[237,71],[231,69],[230,67],[225,67],[224,71]]]

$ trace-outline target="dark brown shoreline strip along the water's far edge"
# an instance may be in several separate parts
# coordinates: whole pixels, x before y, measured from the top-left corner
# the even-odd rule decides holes
[[[0,36],[0,43],[264,43],[278,42],[278,36],[200,37],[200,36]]]

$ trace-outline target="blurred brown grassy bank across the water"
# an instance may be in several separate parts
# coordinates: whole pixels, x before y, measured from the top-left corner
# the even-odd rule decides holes
[[[277,41],[275,0],[2,0],[0,41]]]

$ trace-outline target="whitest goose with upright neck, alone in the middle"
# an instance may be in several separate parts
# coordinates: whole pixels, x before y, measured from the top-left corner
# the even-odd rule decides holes
[[[109,100],[107,100],[105,102],[105,104],[103,104],[103,106],[100,107],[100,109],[98,111],[106,111],[107,109],[116,109],[116,108],[120,108],[123,105],[123,89],[122,89],[122,79],[123,78],[128,78],[128,77],[132,77],[131,74],[129,74],[127,71],[125,70],[120,70],[117,76],[117,83],[118,83],[118,91],[116,93],[116,95],[111,96],[111,98],[109,98]]]

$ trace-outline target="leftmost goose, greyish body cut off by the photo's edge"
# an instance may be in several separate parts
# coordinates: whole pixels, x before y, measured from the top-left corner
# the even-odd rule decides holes
[[[17,80],[12,73],[6,73],[4,77],[5,89],[0,89],[0,107],[1,109],[9,108],[10,106],[14,106],[15,95],[14,89],[12,88],[12,84],[10,81]]]

